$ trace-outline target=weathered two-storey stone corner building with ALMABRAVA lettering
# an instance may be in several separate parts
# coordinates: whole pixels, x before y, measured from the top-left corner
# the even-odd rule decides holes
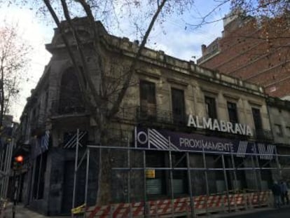
[[[77,22],[82,36],[89,37],[85,19]],[[109,35],[100,22],[95,25],[102,32],[107,67],[126,69],[138,44]],[[67,36],[74,40],[69,29]],[[18,144],[30,145],[22,198],[45,214],[67,214],[73,202],[76,140],[81,157],[86,145],[98,143],[99,135],[82,102],[73,64],[57,29],[46,48],[53,57],[27,99],[19,128]],[[88,52],[88,61],[92,61],[90,57]],[[93,69],[92,80],[97,86],[99,75]],[[103,149],[132,149],[130,163],[127,151],[111,150],[115,169],[108,171],[111,202],[126,202],[128,197],[138,202],[190,193],[198,196],[234,189],[268,189],[272,179],[279,177],[267,168],[263,172],[269,173],[258,175],[256,170],[249,170],[258,164],[276,164],[263,88],[163,51],[145,48],[142,52],[132,85],[111,120],[109,132],[112,140],[103,144]],[[98,187],[99,152],[92,152],[90,159],[89,205],[95,204],[97,190],[102,189]],[[233,170],[235,164],[240,170]],[[127,171],[116,169],[127,165],[132,170],[129,193]],[[174,170],[169,171],[172,167]],[[146,168],[152,173],[144,178]],[[75,205],[84,202],[85,171],[85,165],[80,165]]]

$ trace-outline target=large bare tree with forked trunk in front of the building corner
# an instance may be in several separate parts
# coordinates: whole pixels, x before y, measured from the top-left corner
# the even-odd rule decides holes
[[[27,4],[26,1],[15,2]],[[67,53],[76,70],[83,101],[88,111],[90,111],[90,115],[97,123],[96,131],[99,133],[99,144],[106,145],[109,143],[109,123],[118,113],[127,89],[132,83],[132,76],[138,65],[142,50],[144,50],[146,42],[149,39],[153,25],[157,21],[164,22],[166,15],[182,13],[184,8],[188,8],[188,6],[193,4],[193,0],[43,0],[42,3],[41,5],[41,1],[33,1],[32,6],[37,8],[38,12],[46,15],[48,12],[57,25]],[[105,67],[106,61],[103,55],[102,36],[97,29],[95,20],[101,18],[105,25],[108,22],[110,25],[118,26],[120,25],[118,23],[118,11],[125,11],[130,17],[134,18],[138,18],[140,11],[144,11],[144,13],[142,18],[135,19],[132,23],[139,33],[139,36],[141,36],[141,43],[137,46],[137,50],[135,50],[130,64],[123,67],[123,71],[121,72],[123,80],[112,81],[108,79],[111,72]],[[90,25],[90,42],[85,41],[80,36],[75,25],[73,18],[79,14],[85,15]],[[64,27],[61,20],[66,20],[66,24],[74,37],[75,45],[71,44],[67,34],[65,34],[67,26]],[[90,43],[90,54],[93,54],[94,74],[100,78],[97,85],[93,82],[91,68],[86,58],[86,51],[88,50],[88,46],[86,45],[88,43]],[[109,151],[102,151],[102,160],[101,158],[99,160],[98,187],[102,187],[102,189],[98,189],[98,204],[106,204],[111,198],[111,189],[109,186],[111,175],[110,156]]]

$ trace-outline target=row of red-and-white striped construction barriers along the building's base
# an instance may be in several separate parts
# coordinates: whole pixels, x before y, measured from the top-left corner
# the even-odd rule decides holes
[[[247,210],[253,207],[268,206],[270,191],[195,196],[192,203],[195,214]],[[81,205],[71,210],[71,212],[74,214],[85,213],[88,218],[188,217],[188,214],[191,214],[191,198],[149,200],[145,203],[116,203],[92,207]]]

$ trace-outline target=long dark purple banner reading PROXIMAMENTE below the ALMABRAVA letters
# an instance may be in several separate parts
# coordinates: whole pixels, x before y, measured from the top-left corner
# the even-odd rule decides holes
[[[165,151],[229,153],[241,158],[247,154],[259,154],[264,160],[272,160],[275,153],[275,145],[272,144],[138,127],[135,128],[135,147]]]

